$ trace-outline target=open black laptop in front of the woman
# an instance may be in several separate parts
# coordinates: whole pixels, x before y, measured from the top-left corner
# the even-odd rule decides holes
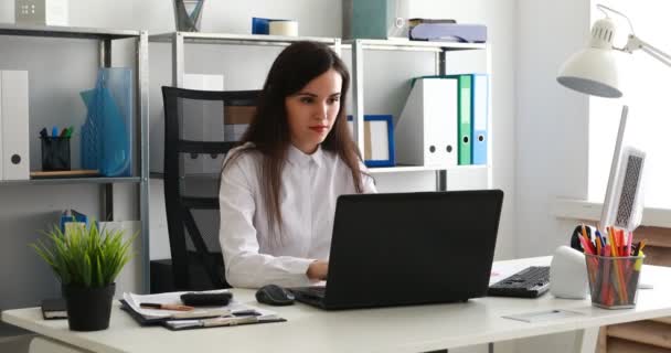
[[[327,287],[290,290],[328,310],[483,297],[502,203],[500,190],[342,195]]]

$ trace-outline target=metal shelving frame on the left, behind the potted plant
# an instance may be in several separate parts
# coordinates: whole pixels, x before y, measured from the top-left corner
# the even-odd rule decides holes
[[[136,117],[136,175],[128,178],[62,178],[62,179],[35,179],[21,181],[1,181],[2,185],[61,185],[61,184],[99,184],[102,188],[100,206],[102,213],[107,220],[114,220],[114,184],[131,183],[138,185],[139,221],[141,224],[141,253],[138,254],[142,274],[142,287],[140,290],[149,291],[149,125],[148,125],[148,34],[146,31],[86,29],[71,26],[35,26],[0,24],[0,35],[33,36],[33,38],[58,38],[76,40],[94,40],[99,43],[99,66],[111,66],[111,42],[115,40],[132,39],[136,44],[135,74],[135,117]],[[94,72],[95,73],[95,72]],[[73,200],[74,202],[74,200]]]

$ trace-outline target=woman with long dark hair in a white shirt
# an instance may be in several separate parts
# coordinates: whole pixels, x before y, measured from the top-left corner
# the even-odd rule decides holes
[[[350,75],[327,45],[273,63],[244,145],[224,161],[220,242],[234,287],[323,280],[336,201],[375,192],[347,122]]]

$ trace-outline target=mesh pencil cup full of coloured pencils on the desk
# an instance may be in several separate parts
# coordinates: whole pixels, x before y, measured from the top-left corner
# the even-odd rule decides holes
[[[585,254],[592,304],[605,309],[636,307],[645,256],[605,257]]]

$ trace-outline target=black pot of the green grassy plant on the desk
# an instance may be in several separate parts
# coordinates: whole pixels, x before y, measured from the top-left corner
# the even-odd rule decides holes
[[[115,284],[99,288],[63,286],[62,290],[71,330],[98,331],[109,327]]]

